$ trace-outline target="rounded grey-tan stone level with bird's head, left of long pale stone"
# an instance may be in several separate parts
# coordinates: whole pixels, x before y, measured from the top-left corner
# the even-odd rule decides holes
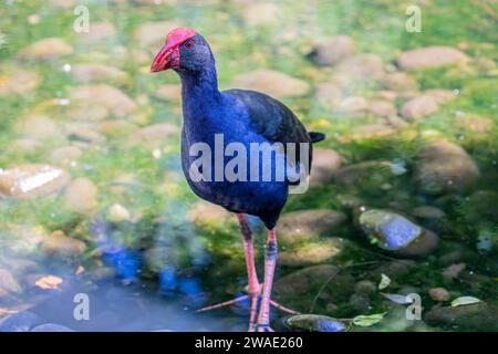
[[[317,45],[309,56],[318,65],[335,65],[353,53],[353,40],[347,35],[336,35]]]

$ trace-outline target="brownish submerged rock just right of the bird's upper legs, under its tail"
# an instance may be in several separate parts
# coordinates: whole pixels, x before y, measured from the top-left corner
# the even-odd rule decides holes
[[[343,212],[328,209],[286,212],[279,220],[279,241],[292,244],[310,240],[341,226],[345,220]]]

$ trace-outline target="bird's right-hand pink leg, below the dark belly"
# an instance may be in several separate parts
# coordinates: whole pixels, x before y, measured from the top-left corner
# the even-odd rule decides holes
[[[264,249],[264,280],[262,287],[261,309],[258,315],[258,332],[270,332],[271,288],[273,285],[274,267],[277,263],[277,232],[268,231],[267,247]]]

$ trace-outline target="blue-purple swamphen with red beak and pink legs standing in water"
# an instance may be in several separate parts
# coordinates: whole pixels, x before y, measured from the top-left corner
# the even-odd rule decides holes
[[[199,166],[196,165],[197,156],[193,156],[191,149],[196,144],[216,149],[216,136],[220,135],[222,135],[225,144],[237,143],[239,147],[248,150],[255,143],[267,145],[281,143],[282,146],[286,146],[283,150],[280,150],[280,154],[287,158],[286,164],[299,166],[300,171],[304,171],[305,177],[308,177],[311,167],[311,144],[322,140],[324,135],[308,133],[288,107],[266,94],[245,90],[220,92],[218,90],[215,58],[209,44],[191,29],[179,28],[168,33],[165,46],[152,63],[151,72],[168,69],[176,71],[181,80],[184,115],[181,165],[188,184],[200,198],[235,212],[243,236],[249,284],[248,295],[203,310],[220,308],[249,298],[249,331],[271,331],[269,325],[271,305],[293,313],[292,310],[286,309],[270,299],[277,261],[276,225],[293,181],[290,178],[283,180],[277,178],[274,180],[271,178],[227,180],[227,178],[217,178],[219,176],[215,177],[215,180],[194,178],[191,167]],[[295,148],[297,154],[302,148],[301,146],[309,146],[305,155],[307,164],[302,163],[302,157],[289,158],[290,154],[287,147],[289,143],[299,145]],[[276,162],[274,155],[268,156],[263,155],[261,164],[257,164],[256,177],[261,177],[261,170]],[[299,156],[302,155],[299,154]],[[258,155],[258,160],[259,157],[260,155]],[[226,156],[222,157],[221,162],[226,163]],[[216,164],[215,157],[212,166],[203,166],[203,169],[206,170],[198,168],[198,173],[206,177],[206,173],[211,173],[211,167],[215,170]],[[253,162],[246,166],[240,164],[238,171],[245,170],[247,167],[252,168],[252,164]],[[251,175],[251,177],[253,176]],[[255,268],[252,232],[246,215],[259,217],[269,230],[261,288]],[[258,300],[260,300],[260,304],[257,315]]]

